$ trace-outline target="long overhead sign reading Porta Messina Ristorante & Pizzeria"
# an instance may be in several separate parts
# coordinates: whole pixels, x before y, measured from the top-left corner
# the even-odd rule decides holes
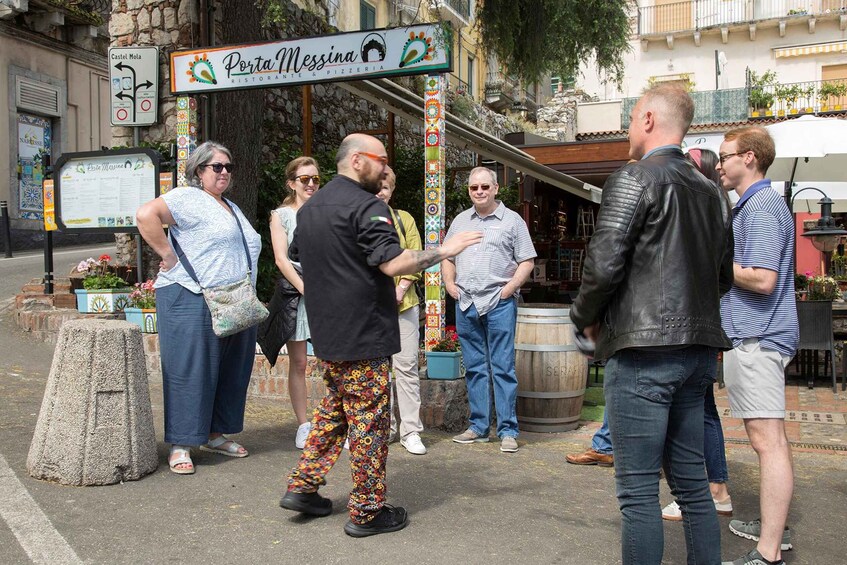
[[[171,53],[171,92],[293,86],[452,70],[447,24]]]

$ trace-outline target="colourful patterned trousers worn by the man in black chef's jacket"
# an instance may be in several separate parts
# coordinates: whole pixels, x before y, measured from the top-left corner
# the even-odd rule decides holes
[[[326,474],[349,435],[353,490],[347,507],[357,524],[371,521],[385,501],[389,369],[388,357],[324,362],[327,395],[315,410],[306,447],[288,476],[292,492],[313,492],[326,484]]]

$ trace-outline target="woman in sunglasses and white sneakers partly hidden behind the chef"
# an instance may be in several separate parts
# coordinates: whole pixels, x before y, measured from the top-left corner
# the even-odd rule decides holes
[[[303,276],[300,264],[288,258],[288,246],[297,228],[297,210],[321,186],[318,163],[311,157],[297,157],[285,167],[286,186],[290,191],[279,208],[271,212],[271,243],[274,260],[282,276],[300,293],[294,334],[288,337],[288,396],[297,417],[297,434],[294,445],[303,449],[312,429],[311,417],[306,411],[306,340],[309,339],[309,322],[306,319],[306,302],[303,300]]]

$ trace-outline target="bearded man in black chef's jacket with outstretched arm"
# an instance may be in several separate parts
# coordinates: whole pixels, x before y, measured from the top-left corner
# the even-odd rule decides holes
[[[344,531],[364,537],[400,530],[406,510],[385,504],[390,358],[400,351],[394,280],[452,257],[482,234],[470,232],[424,251],[402,249],[388,206],[378,198],[385,147],[364,134],[338,148],[338,175],[297,213],[292,258],[303,266],[306,313],[327,395],[288,477],[280,506],[314,516],[332,512],[318,488],[350,441],[353,490]]]

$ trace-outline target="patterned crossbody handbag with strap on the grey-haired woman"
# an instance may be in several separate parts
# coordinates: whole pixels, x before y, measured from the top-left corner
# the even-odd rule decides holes
[[[227,199],[224,199],[224,201],[230,208],[233,207],[232,202]],[[212,315],[212,331],[218,337],[237,334],[260,324],[268,317],[268,309],[256,296],[256,289],[253,287],[253,281],[250,280],[253,262],[250,259],[250,249],[247,247],[247,238],[244,237],[244,230],[241,228],[241,222],[238,220],[238,215],[234,209],[232,215],[235,218],[235,223],[238,224],[238,231],[241,232],[241,243],[244,245],[244,252],[247,253],[249,265],[244,278],[234,283],[203,288],[197,278],[197,273],[194,272],[194,267],[191,266],[176,238],[173,234],[170,234],[174,251],[176,251],[180,263],[182,263],[188,276],[194,279],[194,282],[203,291],[203,298],[206,300],[206,306],[209,307],[209,312]]]

